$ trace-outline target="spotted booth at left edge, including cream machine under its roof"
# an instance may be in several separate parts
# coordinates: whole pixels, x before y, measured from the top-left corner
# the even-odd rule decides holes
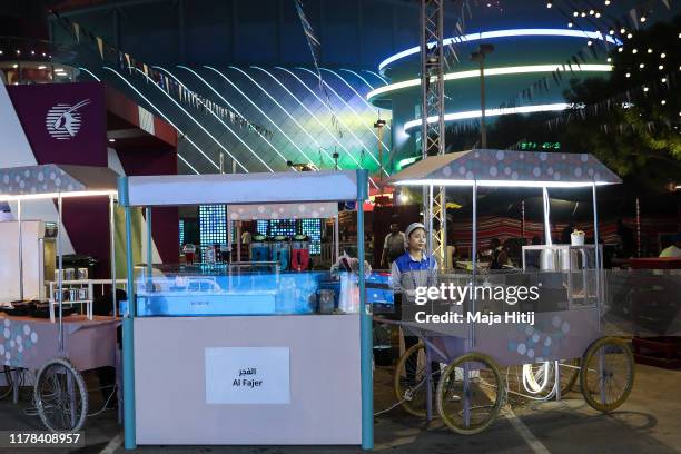
[[[50,431],[79,431],[88,414],[88,393],[80,373],[116,366],[116,298],[114,296],[110,317],[93,316],[91,309],[87,315],[67,316],[61,244],[63,199],[108,197],[114,265],[117,177],[108,168],[53,164],[0,169],[0,200],[16,204],[17,213],[17,221],[0,229],[16,228],[3,238],[16,244],[6,244],[0,249],[6,261],[10,263],[0,274],[6,288],[0,300],[0,326],[4,334],[0,338],[0,352],[6,366],[4,378],[8,379],[9,375],[9,379],[18,384],[19,374],[24,371],[33,374],[38,415]],[[46,274],[49,273],[45,272],[52,270],[49,279],[53,278],[53,239],[48,247],[45,224],[22,219],[23,204],[41,199],[57,199],[56,283],[47,280]],[[11,265],[12,259],[17,259],[17,267]],[[116,288],[114,272],[109,284]],[[52,292],[46,296],[46,288],[56,289],[56,296]],[[70,303],[72,306],[75,302]],[[58,318],[55,317],[55,306]],[[14,402],[18,389],[13,386]]]

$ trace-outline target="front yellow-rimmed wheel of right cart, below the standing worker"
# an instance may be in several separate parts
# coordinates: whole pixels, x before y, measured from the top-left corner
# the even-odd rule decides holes
[[[454,359],[437,385],[437,411],[462,435],[484,431],[499,414],[506,385],[494,361],[481,353]]]

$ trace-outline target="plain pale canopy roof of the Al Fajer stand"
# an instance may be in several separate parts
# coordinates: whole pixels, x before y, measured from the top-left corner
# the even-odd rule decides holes
[[[125,200],[124,204],[130,206],[177,206],[356,200],[358,194],[357,171],[128,177],[128,200]]]

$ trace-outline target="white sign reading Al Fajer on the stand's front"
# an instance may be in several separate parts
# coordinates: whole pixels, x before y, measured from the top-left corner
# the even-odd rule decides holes
[[[207,404],[290,404],[288,347],[207,347]]]

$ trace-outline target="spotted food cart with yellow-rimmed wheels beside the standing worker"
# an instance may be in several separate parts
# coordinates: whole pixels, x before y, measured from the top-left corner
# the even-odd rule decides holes
[[[576,369],[581,392],[592,407],[606,412],[626,399],[633,386],[633,357],[624,342],[603,335],[602,251],[595,246],[599,238],[596,187],[621,182],[616,175],[588,154],[483,149],[427,158],[394,175],[391,181],[426,187],[431,194],[431,211],[434,187],[470,187],[473,201],[472,272],[438,276],[442,283],[474,289],[457,305],[442,304],[451,308],[453,319],[458,315],[463,323],[413,319],[399,323],[422,339],[397,365],[395,392],[405,409],[430,418],[435,393],[445,424],[456,433],[474,434],[493,422],[509,393],[529,398],[560,398],[561,391],[568,391],[574,382]],[[478,187],[542,189],[546,245],[523,247],[523,263],[540,264],[539,269],[525,266],[522,273],[480,273],[476,266]],[[580,187],[592,190],[594,245],[552,245],[549,188]],[[427,220],[432,231],[432,218]],[[525,260],[532,254],[539,257]],[[519,285],[534,286],[539,298],[532,304],[509,307],[507,300],[477,297],[477,287],[483,288],[484,295],[485,287],[503,290]],[[511,319],[510,313],[515,314]],[[536,313],[536,319],[522,317],[529,313]],[[467,314],[478,317],[470,319]],[[505,323],[490,322],[496,317]],[[574,358],[580,361],[575,363]],[[444,369],[434,366],[438,363],[446,365]],[[520,382],[524,386],[521,391],[510,386],[517,373],[512,367],[516,365],[521,367]],[[505,373],[500,367],[506,367]],[[562,368],[568,371],[561,372]]]

